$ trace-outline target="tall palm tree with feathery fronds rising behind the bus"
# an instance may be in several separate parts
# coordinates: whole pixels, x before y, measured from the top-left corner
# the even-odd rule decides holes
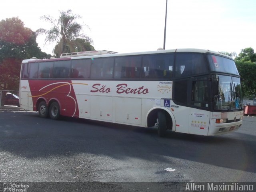
[[[72,14],[71,10],[60,11],[58,20],[50,16],[42,16],[41,19],[46,20],[52,24],[50,30],[40,28],[36,30],[37,34],[46,34],[45,42],[54,43],[54,54],[59,57],[62,53],[72,52],[80,47],[77,38],[83,38],[89,44],[92,44],[92,39],[87,35],[81,33],[83,26],[78,24],[75,20],[81,18],[79,15]],[[88,28],[88,26],[86,26]]]

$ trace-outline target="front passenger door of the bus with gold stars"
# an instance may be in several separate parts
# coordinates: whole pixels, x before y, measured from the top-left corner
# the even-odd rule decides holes
[[[190,80],[189,133],[208,135],[210,123],[209,81],[204,78]]]

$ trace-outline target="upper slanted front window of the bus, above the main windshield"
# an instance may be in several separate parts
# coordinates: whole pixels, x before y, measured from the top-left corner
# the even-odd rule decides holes
[[[234,60],[222,56],[208,54],[211,71],[239,75]]]

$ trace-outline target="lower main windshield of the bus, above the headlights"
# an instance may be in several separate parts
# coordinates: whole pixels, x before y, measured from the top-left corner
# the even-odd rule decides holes
[[[242,109],[240,79],[224,75],[215,75],[214,78],[218,81],[218,94],[214,96],[214,109]]]

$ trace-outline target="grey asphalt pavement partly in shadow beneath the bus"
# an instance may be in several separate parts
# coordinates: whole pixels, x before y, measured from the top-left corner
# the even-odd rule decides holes
[[[256,182],[256,117],[196,136],[0,108],[0,182]]]

